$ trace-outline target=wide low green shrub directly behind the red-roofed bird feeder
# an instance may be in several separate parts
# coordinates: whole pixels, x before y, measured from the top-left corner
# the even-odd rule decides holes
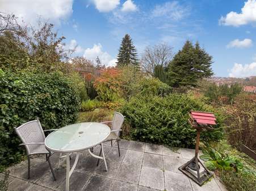
[[[180,94],[166,97],[133,97],[121,108],[131,125],[132,138],[140,141],[170,146],[194,147],[195,129],[188,124],[191,110],[213,111],[212,107],[198,100]],[[223,136],[223,117],[215,112],[217,127],[211,132],[202,132],[202,141],[220,140]]]

